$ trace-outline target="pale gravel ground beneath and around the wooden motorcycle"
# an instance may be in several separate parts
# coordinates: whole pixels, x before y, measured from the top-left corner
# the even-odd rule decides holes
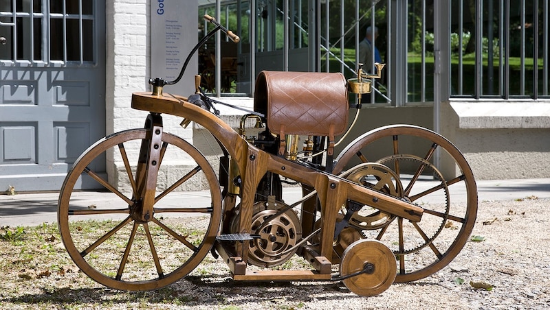
[[[120,292],[65,267],[62,276],[0,283],[2,309],[549,309],[550,200],[482,201],[469,241],[450,265],[414,283],[362,297],[343,283],[242,283],[208,257],[160,291]],[[61,249],[63,250],[63,249]],[[61,251],[60,250],[60,251]],[[61,252],[63,253],[63,252]],[[14,271],[14,272],[17,272]],[[17,278],[17,276],[15,276]],[[484,283],[492,289],[475,289]],[[75,302],[76,301],[76,302]]]

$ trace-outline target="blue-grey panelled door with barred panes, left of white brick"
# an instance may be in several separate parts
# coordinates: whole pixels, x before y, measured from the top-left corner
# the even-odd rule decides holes
[[[60,189],[104,136],[104,16],[98,0],[0,1],[0,191]]]

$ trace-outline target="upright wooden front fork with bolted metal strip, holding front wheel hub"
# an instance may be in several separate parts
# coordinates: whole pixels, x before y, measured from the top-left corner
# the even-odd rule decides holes
[[[137,160],[133,188],[134,206],[131,215],[137,222],[153,219],[157,175],[162,162],[162,116],[151,112],[145,120],[146,138],[142,140],[140,156]]]

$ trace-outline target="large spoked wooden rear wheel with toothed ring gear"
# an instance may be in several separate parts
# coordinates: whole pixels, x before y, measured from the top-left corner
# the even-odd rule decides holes
[[[370,206],[350,220],[364,238],[393,251],[395,282],[430,276],[459,254],[476,221],[477,189],[470,165],[450,141],[426,128],[386,126],[355,139],[336,160],[335,174],[352,167],[342,176],[424,208],[419,223]]]

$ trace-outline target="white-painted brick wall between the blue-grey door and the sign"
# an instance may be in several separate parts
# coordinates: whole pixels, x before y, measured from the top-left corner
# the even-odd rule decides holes
[[[151,78],[151,1],[115,0],[106,3],[107,134],[144,126],[147,112],[131,108],[131,95],[134,92],[151,90],[148,84]],[[193,10],[189,12],[192,13]],[[186,17],[197,19],[196,14]],[[196,35],[197,32],[191,33]],[[163,119],[166,132],[177,134],[192,143],[191,126],[184,130],[179,127],[181,118],[163,115]],[[139,143],[127,143],[125,147],[129,157],[139,152]],[[135,163],[135,159],[131,162]],[[189,164],[185,158],[170,158],[169,153],[164,163],[173,167],[170,171],[178,171],[179,167]],[[123,169],[117,152],[107,154],[107,173],[110,181],[118,184],[120,189],[127,189],[129,183]],[[162,183],[164,178],[166,176],[159,176],[159,182]],[[117,181],[114,181],[115,179]],[[197,182],[198,188],[200,184],[201,182]]]

